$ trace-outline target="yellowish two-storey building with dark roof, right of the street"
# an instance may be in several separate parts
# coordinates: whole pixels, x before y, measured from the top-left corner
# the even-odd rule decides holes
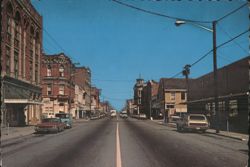
[[[185,79],[161,78],[158,100],[161,113],[169,119],[172,115],[187,113],[187,85]]]

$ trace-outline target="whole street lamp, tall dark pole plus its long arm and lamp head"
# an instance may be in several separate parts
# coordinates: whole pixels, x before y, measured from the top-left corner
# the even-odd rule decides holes
[[[190,22],[190,21],[185,21],[185,20],[176,20],[175,25],[180,26],[186,23],[213,33],[214,103],[215,103],[215,114],[216,114],[216,133],[219,133],[220,132],[220,116],[219,116],[219,111],[218,111],[218,76],[217,76],[217,48],[216,48],[216,24],[217,22],[216,21],[212,22],[212,29],[207,28],[203,25]]]

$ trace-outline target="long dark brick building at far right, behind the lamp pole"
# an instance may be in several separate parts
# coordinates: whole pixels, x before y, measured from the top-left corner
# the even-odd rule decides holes
[[[218,69],[220,128],[247,132],[250,57],[247,56]],[[206,114],[211,127],[216,126],[213,73],[190,82],[188,112]]]

